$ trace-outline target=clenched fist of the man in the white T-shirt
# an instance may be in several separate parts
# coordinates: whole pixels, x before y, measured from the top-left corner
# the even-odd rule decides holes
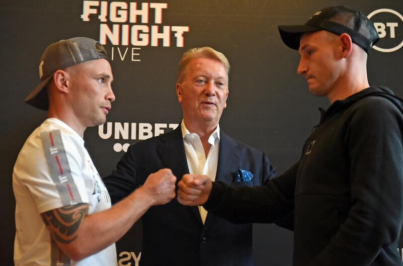
[[[140,189],[151,200],[151,205],[163,205],[175,198],[175,182],[170,169],[161,169],[150,174]]]

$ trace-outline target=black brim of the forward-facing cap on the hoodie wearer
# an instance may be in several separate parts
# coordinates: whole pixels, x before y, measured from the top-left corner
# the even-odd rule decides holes
[[[279,31],[283,42],[291,49],[298,50],[301,35],[306,32],[322,30],[308,25],[280,25]]]

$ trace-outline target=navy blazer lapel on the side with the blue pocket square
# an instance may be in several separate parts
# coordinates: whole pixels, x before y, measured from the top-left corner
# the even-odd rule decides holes
[[[230,185],[239,166],[238,145],[233,138],[220,130],[220,149],[218,152],[218,164],[216,181],[222,181]],[[207,213],[205,226],[210,223],[212,216]]]

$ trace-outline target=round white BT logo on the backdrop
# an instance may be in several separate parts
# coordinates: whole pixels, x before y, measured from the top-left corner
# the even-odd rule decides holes
[[[391,9],[378,9],[368,18],[374,22],[379,42],[373,46],[377,51],[390,53],[403,47],[403,16]]]

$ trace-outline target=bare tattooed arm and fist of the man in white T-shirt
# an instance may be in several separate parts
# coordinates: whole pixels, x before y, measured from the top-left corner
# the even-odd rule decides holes
[[[154,205],[175,197],[176,178],[170,169],[148,176],[143,187],[112,208],[88,215],[88,204],[63,206],[42,213],[52,238],[74,260],[94,254],[122,237]]]

